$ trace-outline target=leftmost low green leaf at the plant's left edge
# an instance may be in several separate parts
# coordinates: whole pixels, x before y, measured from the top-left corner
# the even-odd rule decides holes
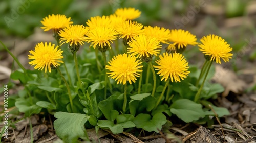
[[[29,117],[32,114],[40,113],[42,107],[35,105],[37,101],[38,100],[34,97],[27,99],[18,98],[16,99],[15,106],[18,108],[19,112],[23,112],[25,113],[25,116]]]

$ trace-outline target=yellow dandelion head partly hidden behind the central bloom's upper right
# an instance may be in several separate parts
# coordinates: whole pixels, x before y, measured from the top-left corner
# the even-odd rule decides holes
[[[160,28],[158,26],[146,26],[144,27],[144,33],[146,36],[157,38],[159,41],[166,44],[166,41],[169,38],[170,30],[164,27]]]

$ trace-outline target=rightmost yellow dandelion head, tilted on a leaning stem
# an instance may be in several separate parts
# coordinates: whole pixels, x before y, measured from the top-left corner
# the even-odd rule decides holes
[[[217,35],[207,35],[201,40],[202,44],[199,44],[199,50],[202,51],[206,56],[210,56],[210,60],[216,60],[216,63],[221,64],[221,58],[227,62],[233,56],[232,48],[227,42]]]

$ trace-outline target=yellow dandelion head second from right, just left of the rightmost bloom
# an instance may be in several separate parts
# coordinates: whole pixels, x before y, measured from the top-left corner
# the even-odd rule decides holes
[[[173,42],[174,45],[178,45],[178,49],[186,47],[187,45],[198,44],[195,35],[191,34],[189,31],[184,31],[182,29],[174,29],[170,31],[169,41]],[[176,46],[177,47],[177,46]]]

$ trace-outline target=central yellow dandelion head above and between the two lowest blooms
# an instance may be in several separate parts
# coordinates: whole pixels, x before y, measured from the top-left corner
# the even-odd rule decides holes
[[[157,56],[157,54],[160,53],[158,49],[161,48],[159,40],[147,37],[144,34],[136,36],[133,40],[128,42],[128,45],[127,53],[137,55],[137,58],[141,58],[141,56]]]

